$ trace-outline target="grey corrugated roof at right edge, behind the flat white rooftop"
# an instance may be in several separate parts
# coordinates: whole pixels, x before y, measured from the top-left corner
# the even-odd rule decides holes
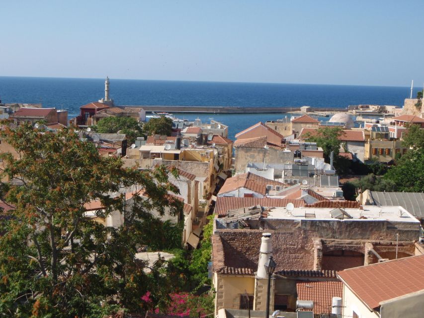
[[[400,205],[419,219],[424,218],[424,193],[369,191],[374,205]],[[365,192],[364,192],[365,193]]]

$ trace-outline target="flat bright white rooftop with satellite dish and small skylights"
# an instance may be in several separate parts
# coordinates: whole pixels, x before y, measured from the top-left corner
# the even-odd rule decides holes
[[[420,224],[401,206],[364,205],[362,209],[345,208],[275,208],[268,212],[268,219],[324,220],[324,221],[394,221]]]

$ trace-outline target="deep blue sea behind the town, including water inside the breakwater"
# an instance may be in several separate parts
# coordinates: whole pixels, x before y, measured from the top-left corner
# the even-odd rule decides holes
[[[348,105],[377,104],[402,106],[409,87],[315,85],[110,79],[110,97],[115,105],[242,106],[346,108]],[[414,90],[414,96],[419,88]],[[80,107],[104,96],[104,79],[0,77],[3,103],[42,103],[43,107],[68,110],[68,117]],[[174,114],[180,119],[202,122],[211,119],[229,126],[229,138],[255,123],[277,120],[290,114]],[[319,120],[328,120],[322,117]]]

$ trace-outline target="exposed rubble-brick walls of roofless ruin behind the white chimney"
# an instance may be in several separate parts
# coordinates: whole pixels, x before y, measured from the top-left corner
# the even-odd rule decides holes
[[[216,231],[212,236],[213,270],[222,274],[253,275],[257,271],[262,233],[261,230]],[[296,236],[294,233],[273,232],[272,255],[277,263],[276,272],[313,268],[313,251],[300,247]]]

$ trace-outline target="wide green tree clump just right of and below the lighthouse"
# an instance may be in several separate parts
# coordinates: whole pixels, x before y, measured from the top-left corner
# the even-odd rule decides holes
[[[116,134],[118,132],[125,134],[130,144],[134,143],[137,137],[143,136],[143,129],[140,123],[132,117],[103,118],[98,122],[95,130],[103,134]]]

